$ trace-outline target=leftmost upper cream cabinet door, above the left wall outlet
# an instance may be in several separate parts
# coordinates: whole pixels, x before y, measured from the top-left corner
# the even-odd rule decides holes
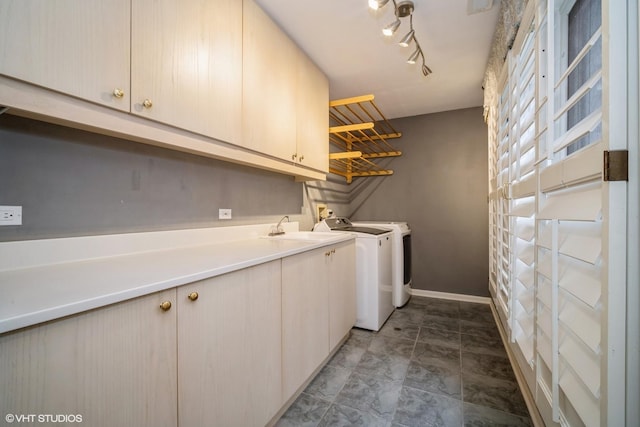
[[[129,29],[130,0],[3,0],[0,74],[128,111]]]

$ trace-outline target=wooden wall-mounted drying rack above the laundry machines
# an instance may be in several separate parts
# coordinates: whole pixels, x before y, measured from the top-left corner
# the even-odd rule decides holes
[[[402,134],[391,126],[373,98],[363,95],[329,102],[329,141],[343,150],[329,153],[329,172],[345,177],[349,184],[354,177],[393,174],[376,160],[402,155],[387,141]]]

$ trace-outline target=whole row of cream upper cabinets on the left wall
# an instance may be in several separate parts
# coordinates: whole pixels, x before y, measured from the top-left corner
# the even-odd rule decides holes
[[[253,0],[0,2],[9,113],[324,179],[328,93]]]

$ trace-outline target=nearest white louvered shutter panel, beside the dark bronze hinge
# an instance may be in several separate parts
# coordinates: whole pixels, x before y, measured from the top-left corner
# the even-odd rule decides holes
[[[551,22],[560,21],[555,2],[550,2],[549,11],[555,15]],[[556,65],[562,65],[560,53],[565,49],[560,43],[561,26],[547,29]],[[537,351],[552,372],[551,383],[544,386],[552,391],[554,420],[562,419],[567,425],[600,425],[603,184],[601,161],[593,160],[602,152],[598,144],[602,70],[596,58],[601,56],[601,35],[601,29],[595,29],[573,58],[569,49],[564,70],[550,72],[546,90],[552,96],[545,116],[540,117],[550,127],[544,140],[546,157],[538,163],[537,286],[544,293],[538,298],[537,316],[551,314],[551,319],[538,320],[543,326]],[[569,45],[578,42],[568,41]],[[586,147],[588,144],[592,146]]]

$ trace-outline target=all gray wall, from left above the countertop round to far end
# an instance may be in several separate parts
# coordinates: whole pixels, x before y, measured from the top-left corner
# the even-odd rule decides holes
[[[254,168],[11,115],[0,116],[0,205],[23,225],[0,241],[277,221],[313,225],[315,204],[360,220],[407,220],[414,287],[487,295],[487,130],[482,109],[396,119],[403,156],[384,178],[296,183]],[[303,205],[305,208],[303,208]],[[234,219],[218,220],[219,208]]]

